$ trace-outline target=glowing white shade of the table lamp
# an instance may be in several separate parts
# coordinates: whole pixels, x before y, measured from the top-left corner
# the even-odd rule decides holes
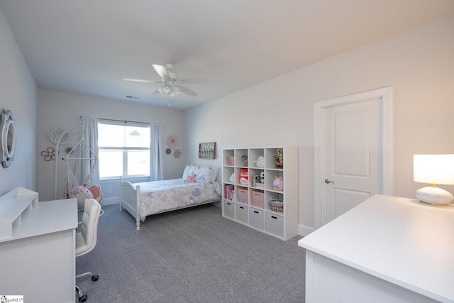
[[[454,155],[414,155],[414,182],[454,184]]]

